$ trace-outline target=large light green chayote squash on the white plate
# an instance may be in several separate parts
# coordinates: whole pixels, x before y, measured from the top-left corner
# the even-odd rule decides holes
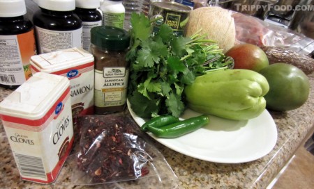
[[[197,76],[186,86],[188,108],[230,120],[249,120],[266,108],[267,79],[249,69],[222,69]]]

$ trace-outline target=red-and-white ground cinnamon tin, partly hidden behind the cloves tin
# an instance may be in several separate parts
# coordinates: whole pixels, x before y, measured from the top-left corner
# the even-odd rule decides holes
[[[73,117],[94,113],[94,56],[88,51],[71,48],[32,56],[31,72],[66,76]]]

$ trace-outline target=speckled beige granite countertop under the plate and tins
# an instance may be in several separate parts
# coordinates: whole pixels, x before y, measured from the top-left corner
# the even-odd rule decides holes
[[[173,151],[158,142],[154,145],[163,154],[174,174],[177,175],[178,186],[160,185],[159,188],[266,188],[289,161],[294,151],[302,144],[306,135],[313,131],[314,125],[314,74],[309,76],[311,92],[306,104],[296,110],[285,113],[272,112],[271,116],[278,130],[278,140],[274,149],[256,161],[238,164],[223,164],[201,161],[177,151]],[[0,101],[7,97],[11,90],[0,89]],[[8,139],[0,125],[0,188],[69,188],[59,184],[42,185],[22,181],[15,165]],[[65,166],[59,176],[62,182],[68,181]],[[104,188],[103,186],[73,186],[71,188]],[[111,187],[112,188],[112,187]],[[136,182],[115,186],[115,188],[141,188]],[[147,186],[145,188],[157,188]]]

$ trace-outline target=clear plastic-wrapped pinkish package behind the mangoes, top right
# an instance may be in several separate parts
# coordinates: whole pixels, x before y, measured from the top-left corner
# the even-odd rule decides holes
[[[264,22],[253,16],[233,12],[237,44],[251,43],[259,47],[284,47],[301,54],[310,54],[314,40],[276,24]]]

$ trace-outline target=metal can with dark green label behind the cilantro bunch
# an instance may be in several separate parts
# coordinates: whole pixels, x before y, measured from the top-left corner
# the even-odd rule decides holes
[[[153,22],[153,34],[158,33],[162,24],[167,24],[172,28],[173,35],[184,36],[186,34],[186,24],[188,24],[191,10],[192,8],[189,6],[174,1],[151,1],[149,18],[159,18]]]

